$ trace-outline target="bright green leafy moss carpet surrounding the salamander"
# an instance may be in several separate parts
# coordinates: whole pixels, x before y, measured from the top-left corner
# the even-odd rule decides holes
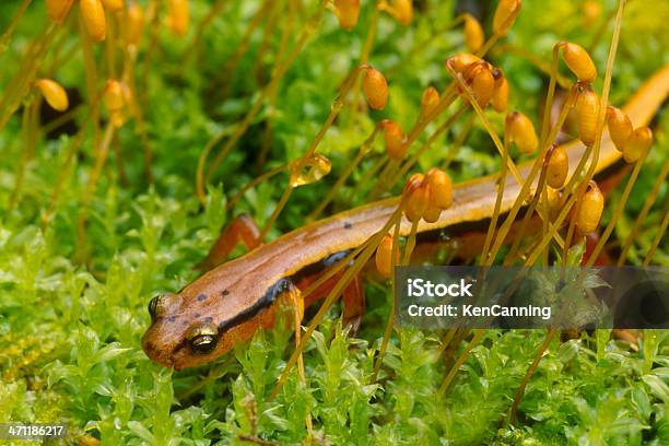
[[[1,30],[7,28],[19,3],[0,4]],[[0,92],[15,74],[12,67],[17,66],[27,39],[45,23],[42,2],[34,3],[38,4],[28,9],[2,55]],[[190,3],[198,23],[209,2]],[[192,30],[185,38],[161,30],[149,64],[143,62],[149,56],[144,42],[138,77],[146,73],[148,83],[140,94],[154,181],[150,185],[144,174],[141,128],[131,119],[117,136],[122,159],[113,153],[87,210],[85,261],[80,256],[77,222],[96,150],[92,128],[86,129],[69,171],[61,166],[74,139],[61,136],[39,141],[15,209],[8,203],[17,160],[25,149],[21,114],[0,131],[0,422],[62,422],[69,426],[70,443],[90,435],[109,445],[240,445],[248,439],[296,444],[306,439],[307,418],[313,423],[313,438],[331,444],[669,443],[667,331],[646,332],[646,344],[638,352],[608,341],[601,333],[584,333],[565,343],[554,341],[527,387],[516,427],[503,420],[544,333],[490,330],[461,367],[445,400],[437,401],[436,391],[447,373],[438,333],[396,330],[379,380],[373,383],[375,354],[390,312],[390,293],[377,283],[366,285],[368,310],[360,339],[341,327],[339,308],[331,309],[304,354],[305,383],[293,371],[272,401],[268,397],[293,350],[289,330],[258,332],[213,364],[183,372],[162,368],[144,355],[140,339],[150,324],[148,301],[156,293],[179,290],[196,278],[192,266],[206,255],[227,219],[239,212],[249,213],[257,222],[269,218],[283,191],[284,176],[249,190],[233,211],[226,212],[225,200],[257,175],[255,160],[266,126],[271,125],[268,167],[304,152],[327,117],[339,82],[356,63],[366,33],[364,24],[371,17],[369,2],[363,2],[363,25],[344,33],[331,13],[326,15],[280,84],[277,101],[262,108],[214,175],[214,186],[208,189],[202,208],[195,197],[201,149],[220,131],[233,131],[275,63],[279,31],[260,63],[260,83],[249,75],[262,44],[262,33],[256,32],[238,70],[221,72],[259,3],[231,4],[204,33],[200,57],[193,56],[189,62],[184,62],[184,51]],[[316,3],[303,5],[296,26]],[[410,27],[382,15],[371,62],[388,72],[391,99],[382,113],[367,116],[347,110],[340,116],[320,148],[332,159],[334,173],[353,156],[374,122],[392,117],[409,127],[422,90],[430,84],[446,85],[443,61],[462,50],[462,39],[458,30],[437,31],[453,19],[454,2],[416,3],[424,4],[426,12],[418,12]],[[567,20],[578,14],[580,3],[526,1],[508,42],[544,60],[559,38],[587,45],[596,28],[583,31]],[[602,16],[613,10],[612,3],[605,2]],[[655,8],[645,5],[630,2],[613,79],[614,103],[624,102],[664,63],[658,60],[666,48],[664,22],[653,13]],[[72,30],[62,44],[66,49],[79,45],[74,23],[69,26]],[[295,35],[290,36],[291,42]],[[430,45],[416,46],[431,36]],[[594,52],[601,71],[608,38],[605,33],[603,44]],[[96,52],[102,63],[103,47]],[[544,77],[517,56],[493,52],[493,58],[512,83],[513,106],[538,116]],[[85,96],[79,52],[58,67],[55,77]],[[80,125],[85,108],[77,111]],[[667,119],[660,118],[659,128],[667,128]],[[491,120],[501,130],[502,119]],[[456,133],[459,131],[456,126]],[[667,136],[664,130],[657,136],[657,149],[617,227],[620,239],[629,235],[643,206],[643,191],[652,187],[666,163]],[[438,141],[421,159],[421,165],[438,163],[453,140],[446,136]],[[374,150],[380,152],[380,141]],[[116,161],[125,167],[125,178]],[[490,138],[477,122],[451,165],[453,177],[460,180],[493,172],[497,161]],[[371,165],[363,163],[349,185],[360,180]],[[61,174],[62,189],[44,228],[43,219]],[[302,225],[336,178],[332,174],[297,190],[270,238]],[[352,188],[343,190],[334,201],[342,208],[351,204],[345,197]],[[667,193],[662,187],[657,202],[666,202]],[[353,204],[364,199],[354,197]],[[657,226],[661,216],[661,208],[656,206],[648,215],[648,226]],[[637,245],[648,246],[653,235],[653,231],[643,232]],[[629,260],[639,263],[643,254],[633,247]],[[666,246],[660,246],[655,260],[668,265]]]

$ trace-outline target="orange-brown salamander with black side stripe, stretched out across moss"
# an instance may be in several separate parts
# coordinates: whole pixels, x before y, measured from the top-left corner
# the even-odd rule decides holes
[[[648,124],[668,92],[669,66],[650,78],[624,107],[634,126]],[[573,173],[585,146],[577,140],[563,145]],[[621,153],[605,131],[596,172],[620,159]],[[518,166],[524,177],[530,168],[531,162]],[[497,178],[490,175],[455,185],[453,206],[435,223],[421,221],[418,232],[490,219]],[[507,177],[505,188],[502,212],[512,208],[520,191],[512,177]],[[271,326],[278,297],[294,278],[313,271],[324,259],[332,261],[332,256],[361,246],[382,230],[398,203],[398,197],[388,198],[307,224],[215,267],[178,293],[154,297],[149,305],[152,324],[142,338],[144,352],[156,363],[176,369],[221,356],[259,327]],[[400,233],[408,235],[410,227],[403,219]]]

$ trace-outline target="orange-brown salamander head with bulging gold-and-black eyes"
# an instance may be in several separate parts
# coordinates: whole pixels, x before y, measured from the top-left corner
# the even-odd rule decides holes
[[[219,333],[213,317],[197,313],[203,306],[187,306],[185,301],[173,293],[153,297],[149,303],[152,324],[142,338],[151,360],[176,369],[210,362],[232,347]]]

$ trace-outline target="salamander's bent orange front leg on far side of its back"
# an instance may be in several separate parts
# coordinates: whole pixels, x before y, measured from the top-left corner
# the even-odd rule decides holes
[[[221,235],[219,235],[209,254],[196,268],[201,271],[209,271],[221,265],[239,242],[248,250],[253,250],[260,245],[260,230],[256,222],[246,214],[234,218],[227,225],[223,226]]]

